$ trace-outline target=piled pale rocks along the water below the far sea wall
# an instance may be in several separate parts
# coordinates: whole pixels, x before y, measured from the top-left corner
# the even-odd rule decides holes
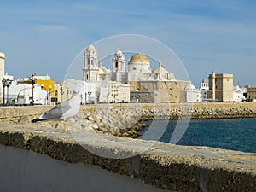
[[[119,137],[137,138],[147,125],[143,121],[154,119],[231,119],[253,118],[256,110],[244,106],[230,108],[94,108],[86,110],[87,125],[95,131]]]

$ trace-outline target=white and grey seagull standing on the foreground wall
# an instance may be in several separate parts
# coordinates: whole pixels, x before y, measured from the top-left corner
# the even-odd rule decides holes
[[[64,120],[64,130],[67,131],[66,120],[79,113],[81,97],[78,93],[74,93],[73,97],[65,102],[55,105],[54,108],[44,112],[39,118],[32,119],[32,123],[44,120]]]

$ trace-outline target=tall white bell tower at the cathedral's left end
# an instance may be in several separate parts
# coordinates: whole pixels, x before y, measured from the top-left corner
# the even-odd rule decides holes
[[[88,48],[84,51],[84,81],[98,80],[98,72],[98,53],[95,47],[92,44],[90,44]]]

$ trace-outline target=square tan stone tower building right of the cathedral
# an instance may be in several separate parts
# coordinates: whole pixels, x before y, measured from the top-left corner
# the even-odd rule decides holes
[[[209,94],[213,101],[233,101],[233,74],[216,74],[212,71],[209,75]]]

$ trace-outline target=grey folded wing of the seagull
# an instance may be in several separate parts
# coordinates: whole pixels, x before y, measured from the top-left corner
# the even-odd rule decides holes
[[[54,108],[50,109],[49,111],[42,114],[39,119],[61,119],[63,118],[63,114],[69,110],[71,106],[69,102],[61,102],[60,104],[56,105]]]

